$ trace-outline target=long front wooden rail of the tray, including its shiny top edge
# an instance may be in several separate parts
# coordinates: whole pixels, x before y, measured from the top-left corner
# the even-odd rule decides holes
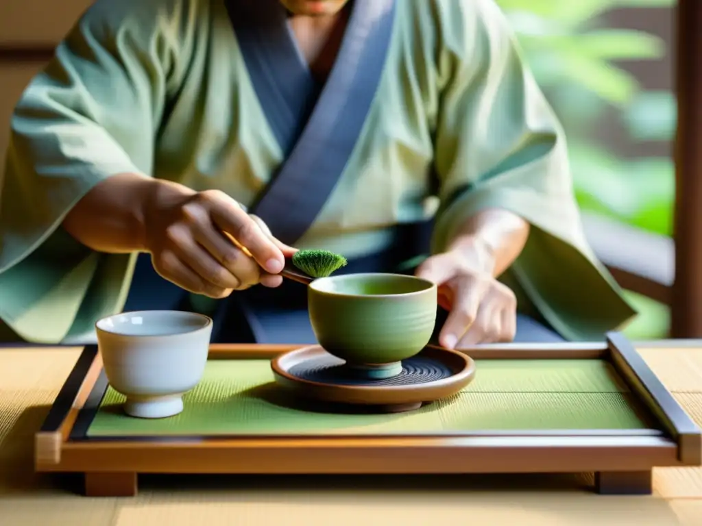
[[[60,464],[41,471],[136,473],[508,473],[640,471],[682,467],[677,445],[662,438],[404,442],[355,440],[327,447],[263,442],[190,445],[65,443]],[[560,446],[558,447],[558,445]]]

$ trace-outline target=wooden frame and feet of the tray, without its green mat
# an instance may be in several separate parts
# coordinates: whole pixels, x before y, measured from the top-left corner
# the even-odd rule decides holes
[[[272,359],[300,345],[213,344],[209,359]],[[633,345],[613,332],[602,344],[505,344],[465,351],[474,359],[605,359],[658,429],[430,432],[417,436],[90,437],[107,388],[89,345],[35,436],[38,472],[84,473],[88,496],[132,496],[138,473],[439,474],[595,473],[595,490],[650,494],[651,470],[701,466],[702,431]],[[663,431],[661,431],[663,430]]]

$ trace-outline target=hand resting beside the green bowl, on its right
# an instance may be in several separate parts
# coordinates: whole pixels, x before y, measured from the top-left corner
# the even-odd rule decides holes
[[[437,283],[439,305],[449,311],[439,344],[461,349],[511,342],[517,330],[517,298],[477,264],[477,255],[453,250],[423,262],[416,275]]]

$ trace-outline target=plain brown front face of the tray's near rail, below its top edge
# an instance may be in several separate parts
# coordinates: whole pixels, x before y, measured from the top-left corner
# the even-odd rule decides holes
[[[201,451],[194,454],[66,454],[61,465],[42,466],[53,473],[152,473],[224,475],[351,475],[351,474],[461,474],[461,473],[592,473],[633,472],[684,467],[675,450],[642,448],[625,454],[621,448],[529,452],[513,450],[456,452],[455,450],[388,452],[382,448],[347,451],[343,455],[311,448],[291,452]],[[477,453],[477,454],[473,454]],[[296,458],[291,459],[292,456]],[[412,456],[410,456],[412,455]],[[380,460],[382,459],[382,460]],[[412,459],[412,461],[408,461]]]

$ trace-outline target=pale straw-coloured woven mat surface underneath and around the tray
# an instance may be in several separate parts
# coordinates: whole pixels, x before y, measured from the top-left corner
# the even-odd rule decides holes
[[[641,353],[702,424],[702,349]],[[72,479],[32,471],[34,432],[78,356],[79,349],[0,349],[2,526],[702,525],[697,468],[656,471],[652,497],[591,494],[590,476],[145,477],[134,499],[79,497],[65,489]],[[471,389],[491,391],[480,387],[485,381]]]

